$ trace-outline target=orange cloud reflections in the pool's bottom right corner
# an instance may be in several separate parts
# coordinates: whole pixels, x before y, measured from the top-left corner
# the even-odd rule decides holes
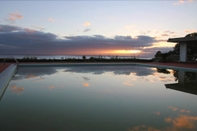
[[[168,116],[163,119],[168,126],[157,128],[154,126],[140,125],[134,126],[128,131],[195,131],[197,129],[197,116],[187,115],[191,111],[168,106],[173,112],[178,112],[176,116]],[[154,112],[160,116],[162,112]]]

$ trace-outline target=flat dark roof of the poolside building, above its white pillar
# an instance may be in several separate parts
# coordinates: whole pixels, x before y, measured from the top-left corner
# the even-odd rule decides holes
[[[197,36],[193,37],[179,37],[179,38],[169,38],[167,42],[194,42],[197,44]]]

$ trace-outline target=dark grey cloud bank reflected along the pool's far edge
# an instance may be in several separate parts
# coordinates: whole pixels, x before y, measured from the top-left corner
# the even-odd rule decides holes
[[[91,73],[91,74],[103,74],[105,72],[112,72],[114,75],[130,75],[147,76],[152,75],[156,71],[152,68],[137,67],[137,66],[87,66],[87,67],[21,67],[19,72],[13,78],[13,80],[31,79],[37,78],[37,81],[44,80],[44,76],[53,75],[59,70],[66,73]],[[90,78],[83,77],[84,80]],[[36,81],[34,80],[34,81]]]

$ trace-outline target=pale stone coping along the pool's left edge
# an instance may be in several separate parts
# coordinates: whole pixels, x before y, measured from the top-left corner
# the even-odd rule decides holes
[[[17,65],[16,64],[11,64],[8,66],[4,71],[0,73],[0,100],[3,97],[7,86],[12,79],[13,75],[17,71]]]

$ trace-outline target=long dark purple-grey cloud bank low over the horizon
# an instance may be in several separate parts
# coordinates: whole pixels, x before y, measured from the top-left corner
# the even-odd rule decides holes
[[[0,25],[0,54],[102,55],[103,50],[107,52],[109,50],[142,50],[143,48],[144,51],[150,51],[151,49],[144,47],[151,47],[158,41],[147,35],[139,35],[135,38],[119,35],[114,37],[64,36],[59,39],[59,36],[53,33]],[[153,55],[152,53],[155,54],[155,52],[149,52],[149,55]],[[104,55],[110,55],[110,53]]]

